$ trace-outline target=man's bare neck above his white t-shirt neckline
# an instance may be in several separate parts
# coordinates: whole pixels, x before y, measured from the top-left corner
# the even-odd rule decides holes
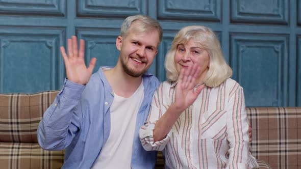
[[[124,98],[131,97],[142,82],[142,76],[130,76],[118,64],[113,69],[104,71],[104,73],[114,93]]]

